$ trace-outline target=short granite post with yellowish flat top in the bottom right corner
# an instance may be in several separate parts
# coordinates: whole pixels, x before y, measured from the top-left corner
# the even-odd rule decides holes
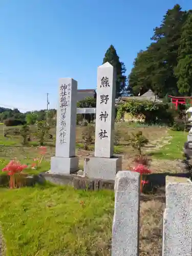
[[[192,182],[166,177],[163,256],[192,255]]]

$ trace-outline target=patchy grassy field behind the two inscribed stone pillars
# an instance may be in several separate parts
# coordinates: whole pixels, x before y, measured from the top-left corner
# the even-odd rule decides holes
[[[11,160],[16,158],[21,163],[28,164],[29,166],[33,162],[34,158],[38,157],[38,141],[32,137],[32,141],[29,145],[22,145],[22,137],[13,135],[15,127],[6,127],[8,137],[0,136],[0,175],[1,169]],[[33,129],[33,128],[32,128]],[[187,139],[187,133],[174,132],[168,130],[166,127],[159,126],[147,126],[145,124],[128,124],[117,123],[115,125],[116,131],[118,131],[119,142],[114,146],[114,154],[123,156],[123,169],[129,168],[132,165],[132,160],[137,154],[133,149],[129,141],[124,140],[125,135],[142,131],[143,135],[149,139],[149,143],[144,147],[143,153],[152,156],[152,159],[157,160],[169,160],[169,169],[175,169],[173,166],[173,160],[183,159],[183,146]],[[76,129],[76,155],[79,157],[79,169],[83,169],[84,157],[92,156],[94,154],[94,141],[89,145],[89,150],[83,150],[83,141],[81,133],[83,131],[82,126],[77,126]],[[50,169],[50,160],[52,156],[55,156],[55,130],[51,129],[53,139],[49,139],[45,142],[47,147],[47,153],[44,161],[39,169],[34,170],[27,168],[26,173],[39,174],[46,172]],[[158,166],[153,166],[155,172],[159,170]],[[163,170],[164,172],[165,170]]]

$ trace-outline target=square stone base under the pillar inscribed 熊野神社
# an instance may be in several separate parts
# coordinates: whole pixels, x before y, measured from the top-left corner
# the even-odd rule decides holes
[[[122,170],[122,158],[87,157],[84,158],[83,173],[90,179],[115,180]]]

